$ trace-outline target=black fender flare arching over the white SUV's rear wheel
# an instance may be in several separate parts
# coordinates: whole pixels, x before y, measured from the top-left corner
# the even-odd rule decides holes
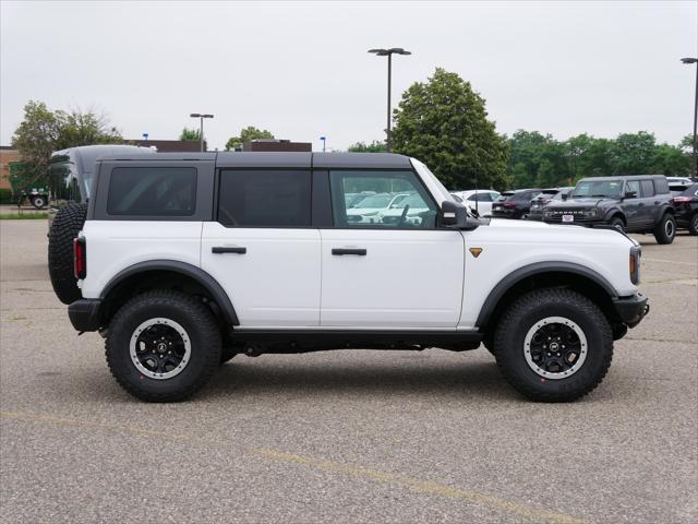
[[[231,325],[240,325],[238,314],[236,313],[236,309],[230,301],[230,297],[228,297],[228,294],[222,288],[222,286],[218,284],[218,281],[216,281],[201,267],[196,267],[195,265],[188,264],[186,262],[180,262],[178,260],[148,260],[146,262],[140,262],[137,264],[130,265],[125,270],[117,273],[107,283],[107,285],[101,290],[99,298],[105,300],[109,293],[115,287],[117,287],[117,285],[123,282],[124,278],[148,271],[171,271],[173,273],[180,273],[193,278],[210,294],[213,299],[220,308],[226,322]]]

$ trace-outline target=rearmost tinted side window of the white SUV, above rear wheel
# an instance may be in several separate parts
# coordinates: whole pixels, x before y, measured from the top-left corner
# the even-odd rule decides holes
[[[189,216],[196,207],[196,169],[117,167],[111,171],[110,215]]]

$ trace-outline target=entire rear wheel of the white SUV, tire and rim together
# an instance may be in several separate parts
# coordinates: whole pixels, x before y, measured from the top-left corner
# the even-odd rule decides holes
[[[167,289],[139,295],[109,325],[107,364],[136,398],[177,402],[203,388],[220,362],[220,331],[201,301]]]

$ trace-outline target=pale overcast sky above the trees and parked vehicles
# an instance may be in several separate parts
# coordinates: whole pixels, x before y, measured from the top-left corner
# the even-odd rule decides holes
[[[383,140],[393,99],[442,67],[470,81],[497,130],[564,140],[691,132],[698,2],[9,2],[0,4],[0,144],[28,99],[98,108],[124,138],[209,147],[244,126],[329,148]]]

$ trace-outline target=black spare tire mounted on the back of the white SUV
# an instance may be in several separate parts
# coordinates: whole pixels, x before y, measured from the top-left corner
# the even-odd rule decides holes
[[[73,239],[85,224],[87,204],[71,203],[61,207],[48,234],[48,273],[53,291],[63,303],[82,298],[73,272]]]

